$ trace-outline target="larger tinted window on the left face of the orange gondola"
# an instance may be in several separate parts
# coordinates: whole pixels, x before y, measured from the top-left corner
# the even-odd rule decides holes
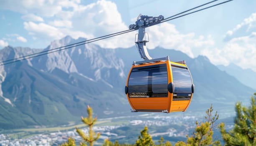
[[[167,67],[153,65],[133,68],[128,82],[130,98],[167,97]]]

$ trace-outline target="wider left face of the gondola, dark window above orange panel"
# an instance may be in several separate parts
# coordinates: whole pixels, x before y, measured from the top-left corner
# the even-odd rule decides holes
[[[167,83],[166,62],[133,66],[127,83],[127,99],[136,111],[166,111],[169,106]]]

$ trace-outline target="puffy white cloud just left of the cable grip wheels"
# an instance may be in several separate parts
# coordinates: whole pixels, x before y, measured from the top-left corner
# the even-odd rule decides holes
[[[106,0],[100,0],[86,6],[80,5],[74,11],[71,20],[76,30],[95,35],[106,35],[128,29],[122,22],[117,5]]]

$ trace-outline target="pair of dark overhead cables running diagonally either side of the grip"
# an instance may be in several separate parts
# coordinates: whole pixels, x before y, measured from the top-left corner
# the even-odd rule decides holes
[[[168,18],[165,18],[164,20],[162,20],[160,23],[164,23],[166,21],[170,21],[170,20],[174,20],[174,19],[177,19],[177,18],[180,18],[180,17],[183,17],[185,15],[190,15],[190,14],[193,14],[193,13],[196,13],[196,12],[199,12],[199,11],[202,11],[202,10],[205,10],[205,9],[208,9],[208,8],[212,8],[212,7],[215,7],[217,5],[221,5],[221,4],[224,4],[224,3],[228,3],[230,1],[233,1],[233,0],[227,0],[227,1],[224,1],[222,3],[218,3],[218,4],[215,4],[215,5],[211,5],[209,7],[206,7],[206,8],[202,8],[200,10],[195,10],[193,12],[190,12],[190,13],[186,13],[190,10],[194,10],[196,8],[200,8],[204,5],[208,5],[210,3],[213,3],[215,1],[218,1],[218,0],[213,0],[213,1],[210,1],[208,3],[205,3],[203,5],[199,5],[197,7],[194,7],[194,8],[191,8],[189,10],[186,10],[186,11],[183,11],[181,13],[178,13],[176,15],[172,15]],[[180,15],[180,14],[183,14],[183,13],[186,13],[184,15]],[[180,16],[177,16],[177,15],[180,15]],[[177,16],[177,17],[175,17]],[[174,18],[173,18],[174,17]],[[157,23],[157,24],[160,24],[160,23]],[[156,25],[156,24],[155,24]],[[151,25],[153,26],[153,25]],[[137,29],[133,29],[133,30],[124,30],[124,31],[120,31],[118,33],[112,33],[112,34],[109,34],[109,35],[104,35],[104,36],[101,36],[101,37],[98,37],[98,38],[93,38],[93,39],[90,39],[90,40],[85,40],[85,41],[81,41],[81,42],[78,42],[78,43],[73,43],[73,44],[70,44],[70,45],[65,45],[65,46],[62,46],[62,47],[58,47],[58,48],[53,48],[53,49],[50,49],[50,50],[44,50],[44,51],[41,51],[41,52],[38,52],[38,53],[33,53],[33,54],[30,54],[30,55],[24,55],[24,56],[21,56],[21,57],[18,57],[18,58],[13,58],[13,59],[10,59],[10,60],[4,60],[0,63],[0,66],[2,65],[7,65],[7,64],[10,64],[10,63],[15,63],[15,62],[18,62],[18,61],[22,61],[22,60],[26,60],[26,59],[30,59],[30,58],[34,58],[34,57],[38,57],[38,56],[41,56],[41,55],[46,55],[46,54],[49,54],[49,53],[54,53],[54,52],[57,52],[57,51],[61,51],[61,50],[66,50],[66,49],[69,49],[69,48],[73,48],[73,47],[76,47],[76,46],[79,46],[79,45],[84,45],[84,44],[87,44],[87,43],[92,43],[92,42],[95,42],[95,41],[98,41],[98,40],[103,40],[103,39],[106,39],[106,38],[111,38],[111,37],[114,37],[114,36],[117,36],[117,35],[121,35],[121,34],[124,34],[124,33],[129,33],[129,32],[132,32],[134,30],[137,30]],[[65,47],[68,47],[68,48],[65,48]],[[57,50],[59,49],[59,50]],[[51,50],[54,50],[54,51],[51,51]],[[51,51],[51,52],[49,52]],[[38,55],[37,55],[38,54]],[[29,57],[30,56],[30,57]],[[28,57],[28,58],[27,58]],[[22,58],[22,59],[21,59]],[[20,59],[20,60],[18,60]],[[9,61],[12,61],[12,62],[9,62]],[[8,63],[6,63],[8,62]]]

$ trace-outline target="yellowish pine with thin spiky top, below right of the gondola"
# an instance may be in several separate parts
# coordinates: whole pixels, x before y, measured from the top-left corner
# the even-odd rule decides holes
[[[213,130],[216,127],[214,123],[216,120],[218,120],[219,115],[216,111],[215,115],[213,116],[212,112],[213,105],[211,105],[206,111],[207,116],[205,116],[206,121],[204,123],[199,124],[198,121],[195,122],[195,132],[192,136],[187,136],[187,144],[183,141],[178,141],[175,146],[220,146],[220,141],[213,140]]]

